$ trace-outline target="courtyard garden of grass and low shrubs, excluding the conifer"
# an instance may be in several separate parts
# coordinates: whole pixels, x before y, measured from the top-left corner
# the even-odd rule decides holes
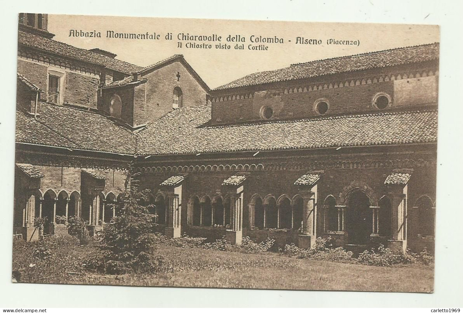
[[[433,264],[399,260],[372,266],[342,249],[303,251],[292,245],[272,250],[271,239],[260,245],[245,240],[243,247],[225,240],[167,239],[154,235],[149,258],[156,268],[108,274],[98,269],[101,243],[90,239],[81,245],[73,236],[13,242],[13,276],[18,282],[128,286],[215,288],[270,288],[305,290],[366,290],[432,292]],[[330,248],[327,248],[327,250]],[[337,251],[335,251],[337,250]],[[372,253],[370,253],[371,255]],[[378,254],[378,253],[376,253]],[[383,253],[383,255],[386,252]],[[378,255],[370,257],[372,263]],[[384,257],[391,259],[391,256]],[[397,258],[397,257],[392,257]],[[367,259],[367,257],[365,257]],[[429,260],[428,260],[429,261]],[[378,263],[377,263],[378,264]]]

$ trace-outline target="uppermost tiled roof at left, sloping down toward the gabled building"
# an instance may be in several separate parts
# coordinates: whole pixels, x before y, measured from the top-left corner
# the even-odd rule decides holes
[[[131,74],[142,69],[137,65],[110,58],[86,49],[77,48],[66,43],[18,31],[18,42],[25,46],[46,50],[57,55],[63,55],[75,60],[85,61],[110,68],[112,70]]]

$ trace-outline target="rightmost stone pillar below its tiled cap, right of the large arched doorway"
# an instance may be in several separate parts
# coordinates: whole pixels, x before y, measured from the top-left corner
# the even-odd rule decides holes
[[[392,189],[394,187],[394,189]],[[396,185],[389,187],[388,196],[392,203],[392,239],[388,247],[395,252],[405,253],[407,249],[407,187],[400,189]]]

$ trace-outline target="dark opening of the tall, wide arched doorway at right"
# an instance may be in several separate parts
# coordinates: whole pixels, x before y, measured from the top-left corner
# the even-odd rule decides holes
[[[373,223],[373,211],[370,209],[370,199],[361,190],[350,193],[347,201],[346,230],[349,243],[365,245],[370,239]]]

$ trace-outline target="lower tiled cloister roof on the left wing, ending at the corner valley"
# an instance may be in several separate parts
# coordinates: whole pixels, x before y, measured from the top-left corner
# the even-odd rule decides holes
[[[36,119],[16,113],[16,141],[113,153],[135,153],[135,136],[100,114],[39,103]]]

